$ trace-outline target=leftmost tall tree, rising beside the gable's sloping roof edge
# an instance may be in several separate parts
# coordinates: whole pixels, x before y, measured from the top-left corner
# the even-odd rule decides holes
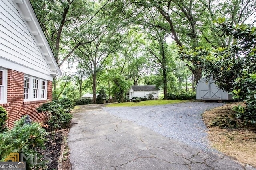
[[[86,14],[93,13],[94,2],[87,0],[31,0],[40,25],[52,47],[58,66],[70,57],[80,45],[94,41],[76,38],[77,25],[86,25]],[[72,29],[71,29],[72,28]],[[53,96],[56,95],[56,78],[53,81]]]

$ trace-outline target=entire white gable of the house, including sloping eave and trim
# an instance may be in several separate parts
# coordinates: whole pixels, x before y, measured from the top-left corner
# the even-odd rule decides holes
[[[1,0],[0,67],[52,81],[61,72],[29,0]]]

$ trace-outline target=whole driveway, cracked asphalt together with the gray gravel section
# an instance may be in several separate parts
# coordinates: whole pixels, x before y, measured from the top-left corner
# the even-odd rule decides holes
[[[202,107],[186,106],[187,108],[193,107],[192,109],[194,106],[203,110],[208,108],[206,105]],[[215,104],[211,106],[216,107]],[[209,107],[211,106],[209,105]],[[200,116],[193,111],[183,112],[184,107],[177,105],[178,113],[174,113],[174,108],[169,105],[160,106],[161,109],[165,108],[176,115],[170,118],[165,110],[155,106],[147,108],[148,110],[142,109],[144,110],[143,113],[136,112],[137,107],[120,107],[116,108],[116,111],[111,111],[104,105],[85,105],[76,110],[72,119],[73,125],[68,135],[72,170],[254,169],[248,165],[241,165],[218,152],[212,152],[209,149],[204,149],[204,147],[202,147],[203,149],[195,147],[198,145],[193,142],[186,143],[186,140],[190,138],[183,139],[183,136],[190,135],[185,134],[185,132],[193,131],[194,128],[197,128],[196,124],[200,124],[200,121],[196,122]],[[152,110],[152,108],[154,109]],[[157,113],[151,114],[152,112]],[[137,118],[129,119],[130,113],[133,113],[133,117]],[[122,115],[126,115],[126,117],[122,117]],[[181,119],[183,117],[187,117],[187,119]],[[192,122],[191,119],[195,117],[198,117],[193,120],[195,125],[191,126],[188,122]],[[142,125],[143,121],[147,123]],[[187,124],[188,129],[183,131],[184,127],[178,127],[178,124],[173,122]],[[149,125],[151,127],[147,127]],[[170,130],[168,125],[169,127],[177,125],[177,127]],[[168,129],[164,130],[166,134],[163,135],[158,132],[160,129],[166,128]],[[175,134],[174,131],[177,129],[180,133],[177,136],[180,137],[172,137],[175,135],[168,137],[169,132]],[[201,125],[197,129],[201,129]],[[205,140],[205,136],[202,136]],[[195,140],[201,140],[201,137]],[[204,142],[200,143],[207,145]]]

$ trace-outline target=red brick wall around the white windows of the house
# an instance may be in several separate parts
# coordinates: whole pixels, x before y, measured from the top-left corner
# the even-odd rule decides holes
[[[12,128],[14,121],[20,119],[22,115],[29,115],[32,121],[46,123],[47,116],[38,113],[36,108],[47,100],[24,102],[24,74],[14,70],[8,70],[7,74],[7,104],[0,104],[8,112],[7,126]],[[52,100],[51,81],[47,82],[47,99]]]

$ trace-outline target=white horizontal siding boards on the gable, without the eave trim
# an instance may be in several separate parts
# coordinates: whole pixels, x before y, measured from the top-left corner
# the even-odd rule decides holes
[[[37,77],[44,74],[52,80],[44,56],[11,0],[0,0],[0,60],[2,67],[13,69],[6,65],[13,62],[13,70]]]

